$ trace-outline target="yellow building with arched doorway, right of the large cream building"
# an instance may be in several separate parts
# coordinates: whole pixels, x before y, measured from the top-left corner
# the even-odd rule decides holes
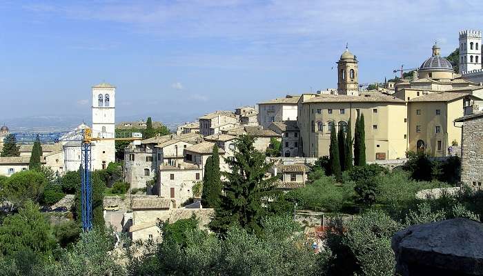
[[[449,148],[461,144],[461,128],[453,121],[464,115],[466,106],[480,101],[473,95],[433,92],[408,101],[408,150],[431,156],[449,155]]]

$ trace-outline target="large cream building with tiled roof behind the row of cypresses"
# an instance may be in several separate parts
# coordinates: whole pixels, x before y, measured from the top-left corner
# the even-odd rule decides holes
[[[370,92],[351,95],[302,95],[299,100],[300,145],[304,157],[328,155],[331,128],[355,133],[357,115],[364,115],[366,159],[406,157],[406,104],[401,99]]]

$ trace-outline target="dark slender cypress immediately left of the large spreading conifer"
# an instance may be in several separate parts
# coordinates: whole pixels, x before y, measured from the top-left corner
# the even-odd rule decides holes
[[[221,173],[219,171],[218,146],[213,146],[213,155],[208,157],[203,177],[201,205],[204,208],[218,208],[221,201]]]

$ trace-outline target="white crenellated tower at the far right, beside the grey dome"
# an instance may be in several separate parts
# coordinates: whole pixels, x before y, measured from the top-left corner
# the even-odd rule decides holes
[[[482,69],[482,32],[462,30],[460,32],[460,74]]]

